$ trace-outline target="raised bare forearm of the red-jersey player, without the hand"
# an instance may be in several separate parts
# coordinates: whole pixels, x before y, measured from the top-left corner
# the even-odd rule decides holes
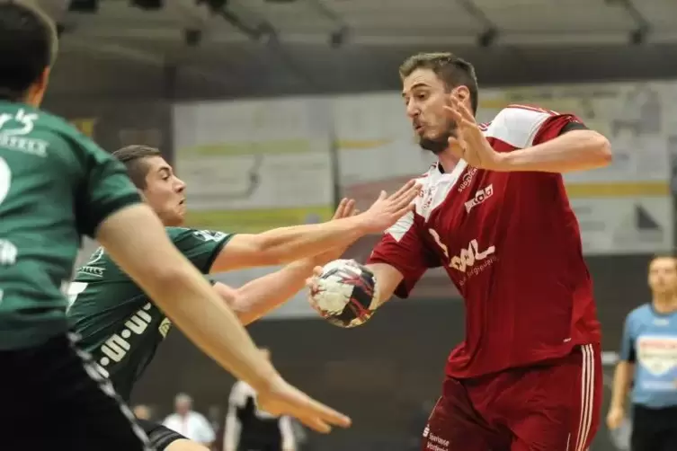
[[[592,130],[573,130],[545,143],[501,154],[499,171],[575,172],[611,162],[609,140]]]

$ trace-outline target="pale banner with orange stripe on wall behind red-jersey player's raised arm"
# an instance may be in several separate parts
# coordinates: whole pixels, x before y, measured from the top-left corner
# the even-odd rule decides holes
[[[574,112],[609,137],[609,167],[565,175],[588,255],[663,252],[673,246],[669,145],[677,84],[575,84],[489,90],[481,117],[509,103]]]

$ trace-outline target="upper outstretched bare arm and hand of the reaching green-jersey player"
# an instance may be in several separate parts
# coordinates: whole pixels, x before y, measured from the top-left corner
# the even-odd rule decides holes
[[[382,192],[361,215],[322,224],[281,227],[262,234],[236,234],[214,259],[210,272],[271,266],[312,257],[361,236],[379,233],[411,210],[418,189],[407,182],[387,197]]]

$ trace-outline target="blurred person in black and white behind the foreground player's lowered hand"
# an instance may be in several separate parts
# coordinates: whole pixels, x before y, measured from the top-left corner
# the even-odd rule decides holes
[[[261,349],[270,359],[270,349]],[[223,451],[298,451],[287,415],[276,416],[256,405],[256,391],[237,381],[230,391]]]

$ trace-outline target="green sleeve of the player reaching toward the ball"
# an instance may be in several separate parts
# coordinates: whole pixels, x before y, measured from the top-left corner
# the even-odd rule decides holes
[[[202,274],[209,274],[218,252],[234,236],[223,232],[183,227],[167,227],[167,233],[176,248],[195,265]]]

